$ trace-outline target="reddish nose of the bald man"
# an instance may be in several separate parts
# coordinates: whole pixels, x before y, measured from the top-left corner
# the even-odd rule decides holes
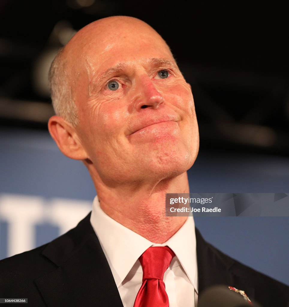
[[[149,77],[140,78],[136,86],[135,108],[137,111],[151,107],[157,109],[164,103],[161,93],[155,88]]]

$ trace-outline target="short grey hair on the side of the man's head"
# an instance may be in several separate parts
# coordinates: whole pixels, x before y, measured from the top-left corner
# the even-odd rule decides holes
[[[73,126],[77,126],[79,120],[63,49],[64,47],[59,49],[49,69],[51,100],[55,114],[63,117]]]

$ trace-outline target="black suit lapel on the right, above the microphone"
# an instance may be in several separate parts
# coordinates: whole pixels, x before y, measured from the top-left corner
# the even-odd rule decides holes
[[[242,278],[235,268],[236,261],[207,243],[196,228],[198,292],[214,285],[232,286],[244,290],[250,299],[254,299],[254,288],[250,281]]]

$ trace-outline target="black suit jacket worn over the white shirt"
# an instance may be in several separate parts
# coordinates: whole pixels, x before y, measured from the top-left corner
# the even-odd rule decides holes
[[[244,290],[264,307],[287,306],[289,287],[224,255],[197,229],[196,240],[199,295],[224,284]],[[28,298],[36,307],[123,306],[90,214],[54,241],[1,260],[0,298]]]

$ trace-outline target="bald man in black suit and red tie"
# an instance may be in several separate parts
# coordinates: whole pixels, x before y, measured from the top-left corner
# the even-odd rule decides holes
[[[205,243],[192,218],[165,216],[165,193],[189,192],[199,137],[190,86],[158,33],[132,17],[95,21],[58,53],[50,80],[57,115],[49,131],[62,153],[83,161],[98,198],[67,234],[1,262],[0,297],[33,306],[196,306],[205,288],[225,284],[264,306],[286,305],[285,285]],[[143,258],[152,250],[160,266],[164,250],[170,258],[165,290],[156,278],[161,303],[139,292],[149,289]]]

